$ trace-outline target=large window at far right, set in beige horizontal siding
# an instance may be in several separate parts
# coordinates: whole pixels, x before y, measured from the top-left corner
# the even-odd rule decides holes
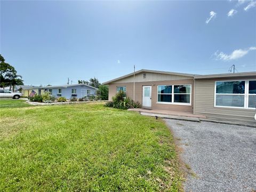
[[[215,82],[215,107],[255,108],[256,81]]]

